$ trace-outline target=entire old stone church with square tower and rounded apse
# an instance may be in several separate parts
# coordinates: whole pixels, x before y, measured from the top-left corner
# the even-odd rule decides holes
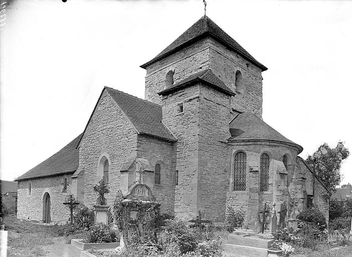
[[[163,213],[222,223],[231,206],[258,228],[264,203],[286,202],[290,218],[314,206],[328,220],[303,148],[262,119],[267,68],[207,16],[141,67],[145,100],[102,88],[83,133],[16,179],[19,218],[65,222],[69,194],[92,208],[103,179],[111,205],[142,174]]]

